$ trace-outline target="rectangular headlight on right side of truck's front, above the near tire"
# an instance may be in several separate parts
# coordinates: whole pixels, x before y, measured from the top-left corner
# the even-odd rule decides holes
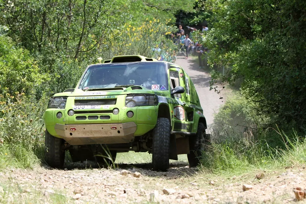
[[[127,95],[125,97],[125,106],[131,108],[134,106],[155,106],[158,99],[154,94]]]

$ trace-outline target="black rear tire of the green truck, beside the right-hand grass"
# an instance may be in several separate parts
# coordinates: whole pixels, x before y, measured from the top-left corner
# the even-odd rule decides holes
[[[207,138],[204,124],[199,122],[196,135],[189,136],[189,154],[187,154],[187,158],[190,167],[195,167],[200,164],[205,139]]]

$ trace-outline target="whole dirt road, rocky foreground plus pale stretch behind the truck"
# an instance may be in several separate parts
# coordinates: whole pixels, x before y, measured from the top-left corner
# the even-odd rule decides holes
[[[211,124],[221,100],[209,91],[209,74],[192,60],[178,57],[176,63],[195,83]],[[189,168],[186,162],[172,163],[167,172],[153,172],[148,163],[121,161],[125,164],[116,164],[116,169],[89,162],[66,164],[65,170],[43,164],[32,170],[6,169],[0,172],[0,203],[288,203],[295,202],[293,187],[306,185],[302,167],[219,176]],[[252,189],[243,191],[243,184]]]

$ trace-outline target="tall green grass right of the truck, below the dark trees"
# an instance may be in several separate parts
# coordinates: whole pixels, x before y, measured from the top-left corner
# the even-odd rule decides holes
[[[306,165],[306,139],[296,132],[292,131],[290,136],[279,130],[258,134],[256,140],[228,137],[212,144],[203,155],[201,168],[219,174]]]

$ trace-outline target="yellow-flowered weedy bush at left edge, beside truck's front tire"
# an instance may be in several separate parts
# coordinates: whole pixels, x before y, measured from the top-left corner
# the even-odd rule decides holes
[[[45,104],[24,93],[10,95],[8,88],[0,86],[0,168],[28,168],[38,161],[36,155],[43,150]]]

